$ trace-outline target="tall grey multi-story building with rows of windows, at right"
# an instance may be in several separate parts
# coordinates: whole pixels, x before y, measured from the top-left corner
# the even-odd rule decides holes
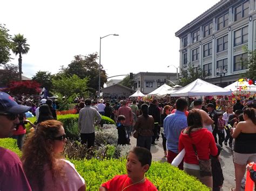
[[[221,87],[237,81],[247,69],[243,47],[256,47],[255,6],[255,0],[222,0],[177,31],[180,68],[200,67],[206,81]]]

